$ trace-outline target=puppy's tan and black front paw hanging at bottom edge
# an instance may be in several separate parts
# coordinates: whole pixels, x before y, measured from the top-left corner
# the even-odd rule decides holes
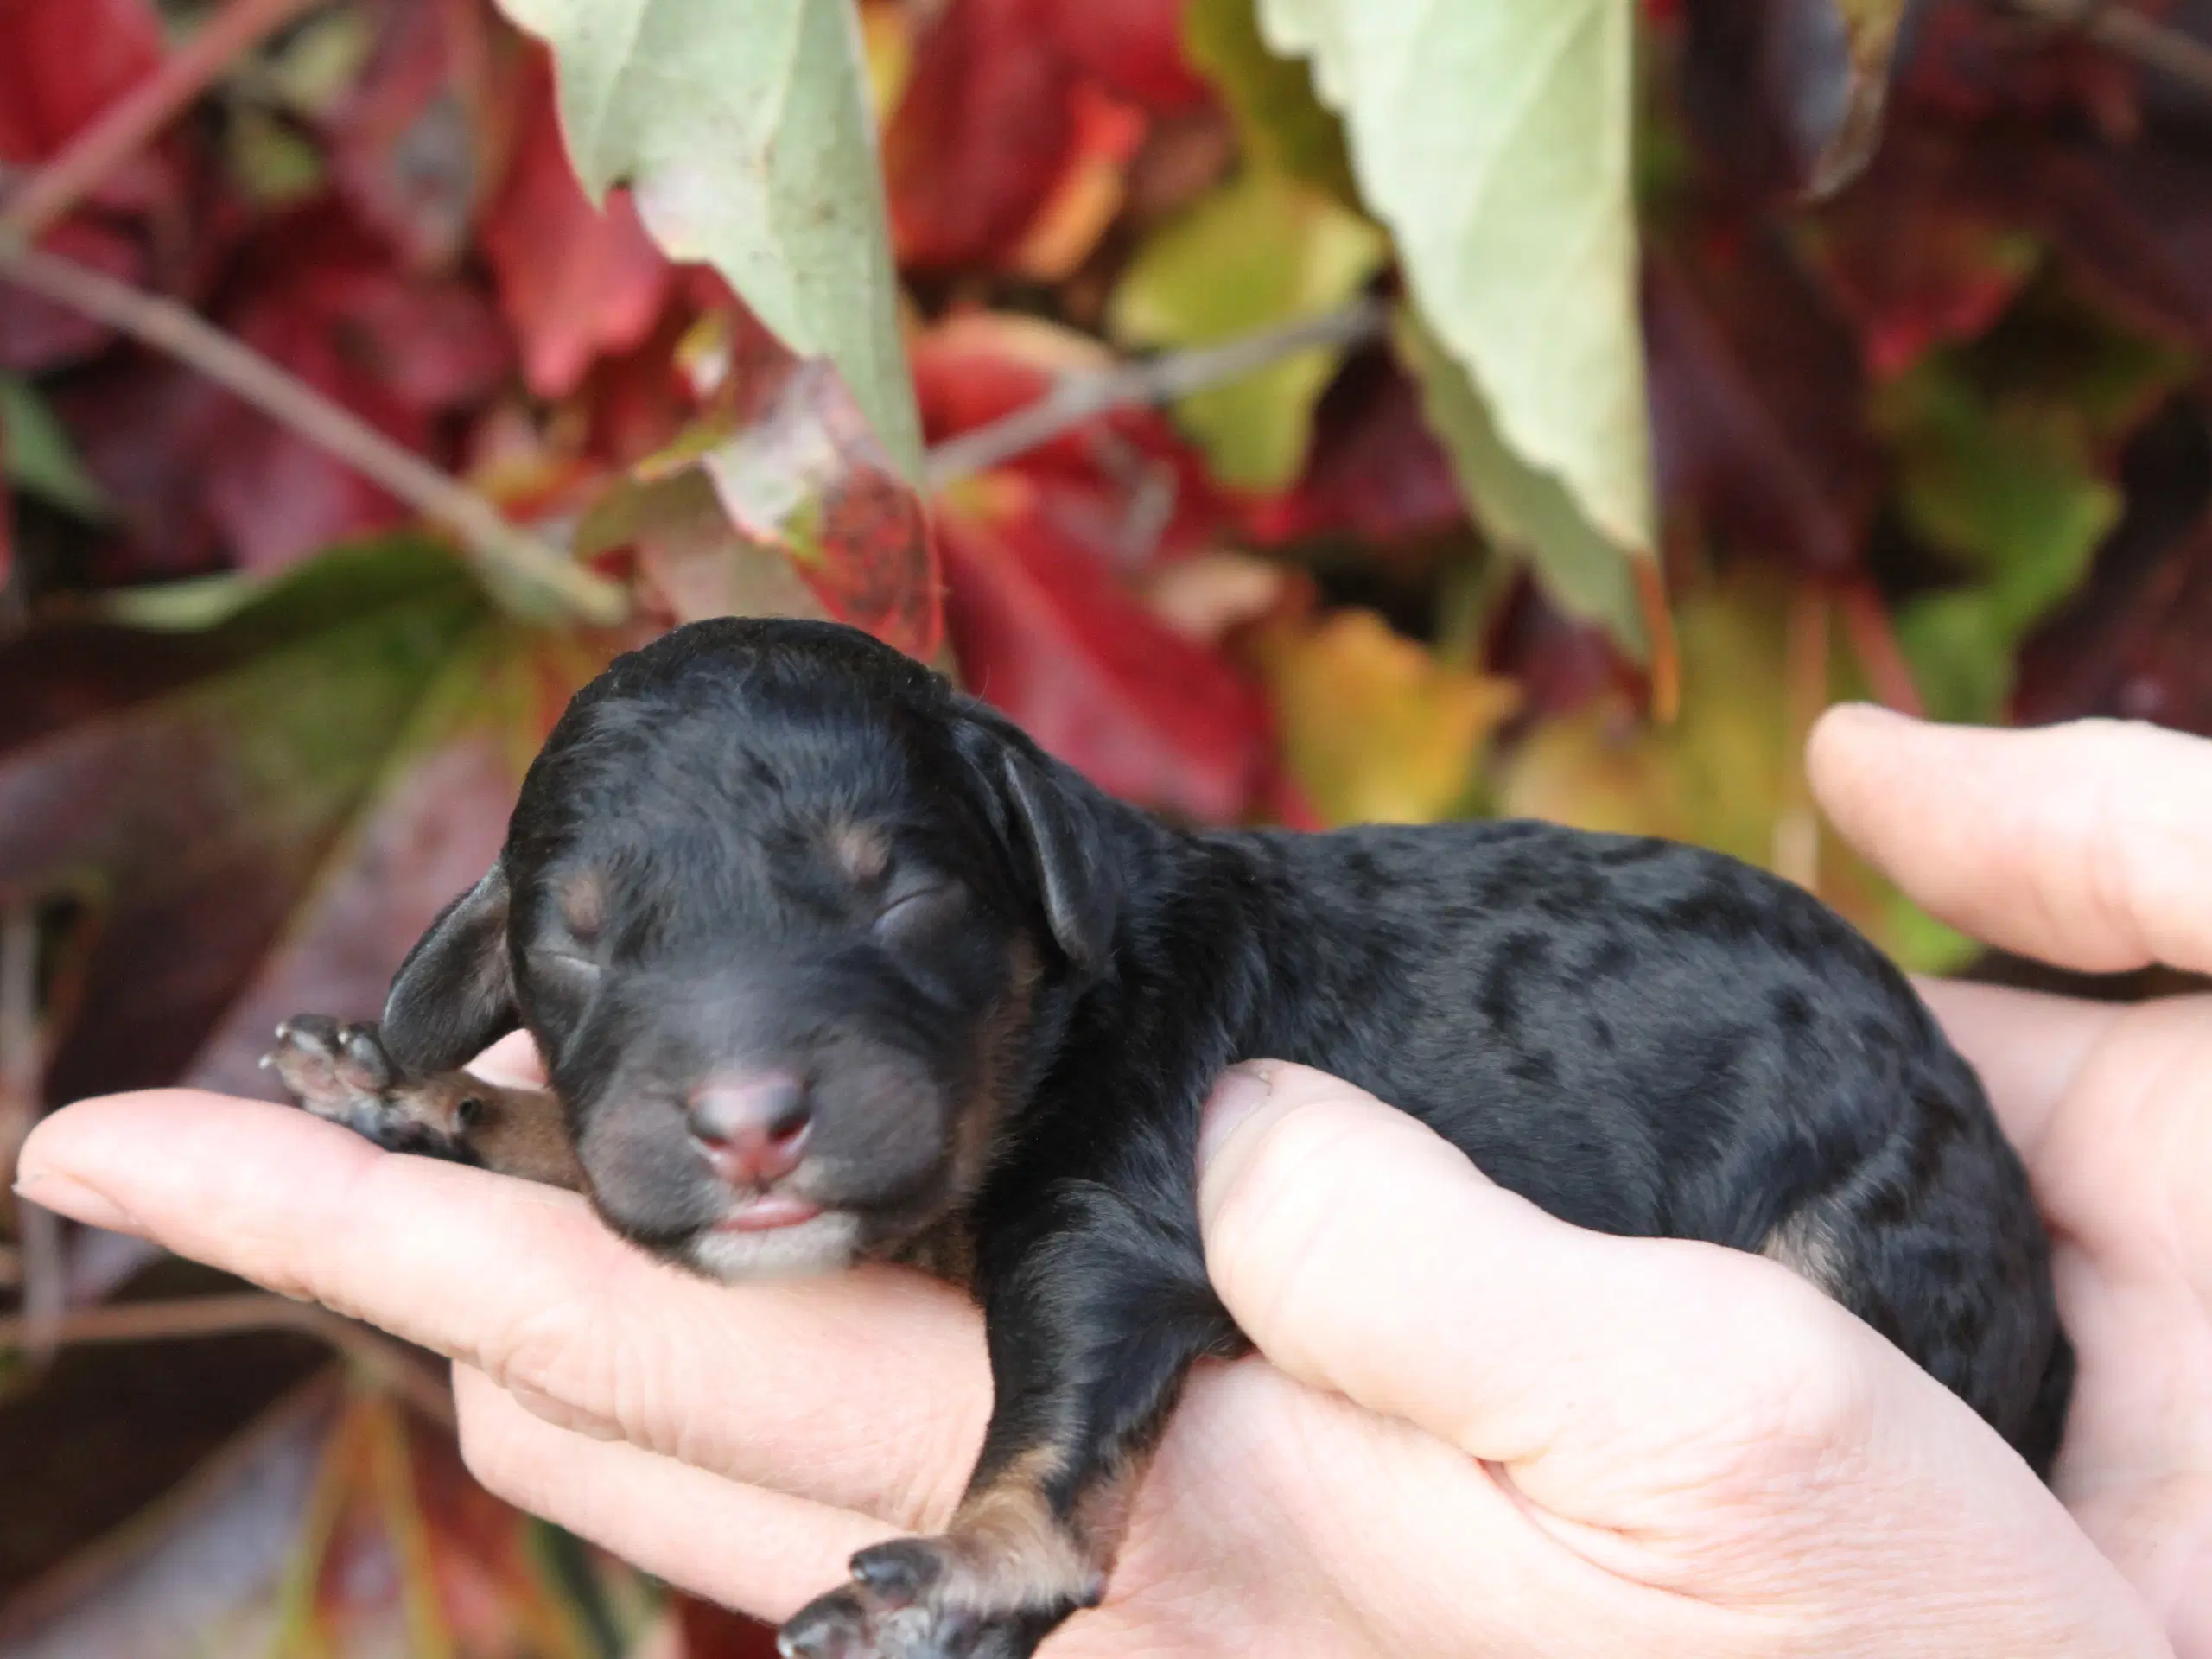
[[[942,1537],[898,1537],[852,1557],[852,1584],[816,1597],[779,1637],[785,1659],[1029,1659],[1086,1601],[1029,1599]]]

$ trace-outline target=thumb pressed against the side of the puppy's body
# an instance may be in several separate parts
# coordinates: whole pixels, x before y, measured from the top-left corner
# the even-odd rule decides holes
[[[1199,1159],[1206,1267],[1261,1354],[1524,1486],[1542,1460],[1832,1442],[1865,1411],[1878,1338],[1803,1281],[1568,1225],[1336,1077],[1232,1068]]]

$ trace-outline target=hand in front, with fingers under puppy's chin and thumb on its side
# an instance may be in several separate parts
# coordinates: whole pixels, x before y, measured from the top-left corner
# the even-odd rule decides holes
[[[1108,1606],[1051,1652],[2163,1650],[1964,1407],[1781,1270],[1579,1234],[1409,1119],[1276,1077],[1214,1124],[1217,1276],[1279,1367],[1396,1416],[1263,1363],[1201,1374]],[[942,1520],[989,1400],[958,1298],[887,1272],[697,1285],[560,1194],[179,1104],[58,1115],[33,1197],[100,1219],[104,1194],[462,1356],[495,1489],[770,1617],[849,1548]]]

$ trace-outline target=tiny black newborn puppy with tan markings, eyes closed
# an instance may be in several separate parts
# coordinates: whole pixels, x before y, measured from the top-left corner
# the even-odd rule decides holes
[[[515,1024],[557,1104],[456,1075]],[[312,1110],[577,1186],[695,1270],[971,1281],[969,1493],[785,1626],[810,1659],[1020,1657],[1099,1599],[1186,1369],[1239,1347],[1194,1137],[1243,1057],[1374,1091],[1566,1221],[1790,1265],[2037,1471],[2073,1383],[1980,1084],[1805,891],[1540,823],[1186,834],[849,628],[619,659],[383,1035],[279,1035]]]

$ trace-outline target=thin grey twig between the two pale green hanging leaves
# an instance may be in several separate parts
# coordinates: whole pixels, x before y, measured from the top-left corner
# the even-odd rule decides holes
[[[975,431],[947,438],[929,451],[929,487],[945,484],[989,471],[1015,456],[1048,445],[1066,431],[1095,420],[1110,409],[1137,403],[1168,403],[1206,387],[1241,380],[1296,352],[1316,345],[1358,345],[1383,332],[1387,316],[1380,303],[1363,299],[1340,312],[1312,316],[1283,327],[1248,334],[1225,345],[1203,345],[1190,352],[1170,352],[1146,363],[1130,363],[1119,369],[1097,374],[1071,374],[1042,398],[1024,409],[1015,409],[1002,420]]]

